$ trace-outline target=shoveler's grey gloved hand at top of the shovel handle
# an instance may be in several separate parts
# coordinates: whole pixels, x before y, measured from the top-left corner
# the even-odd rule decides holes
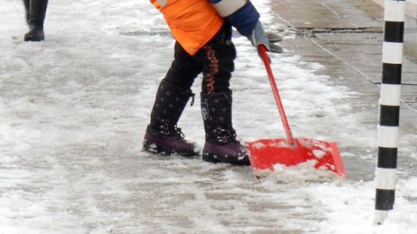
[[[251,35],[247,37],[252,45],[256,48],[258,48],[259,45],[264,45],[269,52],[273,53],[282,53],[282,48],[278,45],[272,44],[275,42],[279,42],[282,40],[278,35],[273,33],[266,34],[265,31],[263,31],[262,23],[258,22],[256,23],[255,28],[253,29]]]

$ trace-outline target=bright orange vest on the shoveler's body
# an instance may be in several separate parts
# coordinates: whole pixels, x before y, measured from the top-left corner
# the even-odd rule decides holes
[[[161,5],[149,0],[164,14],[173,38],[191,56],[212,39],[223,25],[223,18],[208,0],[167,0]]]

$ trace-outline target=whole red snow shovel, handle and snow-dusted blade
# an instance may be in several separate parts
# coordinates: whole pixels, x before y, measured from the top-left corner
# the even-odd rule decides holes
[[[327,143],[315,139],[293,138],[279,98],[277,84],[271,71],[270,58],[263,45],[259,46],[259,51],[270,78],[271,88],[277,102],[287,139],[262,139],[246,143],[255,176],[261,177],[260,175],[263,172],[273,171],[276,164],[289,167],[308,160],[315,160],[315,169],[328,169],[344,177],[343,162],[336,143]]]

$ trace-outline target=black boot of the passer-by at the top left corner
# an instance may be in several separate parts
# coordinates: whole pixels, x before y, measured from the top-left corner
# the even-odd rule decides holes
[[[24,35],[25,41],[41,41],[45,39],[43,22],[47,12],[48,0],[25,0],[26,20],[29,31]]]

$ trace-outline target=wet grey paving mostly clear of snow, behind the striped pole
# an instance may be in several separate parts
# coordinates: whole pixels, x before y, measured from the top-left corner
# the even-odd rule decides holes
[[[278,21],[297,32],[295,39],[282,43],[287,53],[324,65],[323,73],[334,78],[334,85],[357,91],[350,104],[355,110],[370,113],[367,121],[360,124],[376,127],[378,84],[382,76],[383,8],[370,0],[283,0],[273,4]],[[417,139],[417,64],[405,56],[402,81],[400,134],[411,134]],[[399,168],[413,171],[409,165],[415,164],[415,160],[408,156],[400,155]],[[367,167],[359,170],[372,170],[373,165]]]

